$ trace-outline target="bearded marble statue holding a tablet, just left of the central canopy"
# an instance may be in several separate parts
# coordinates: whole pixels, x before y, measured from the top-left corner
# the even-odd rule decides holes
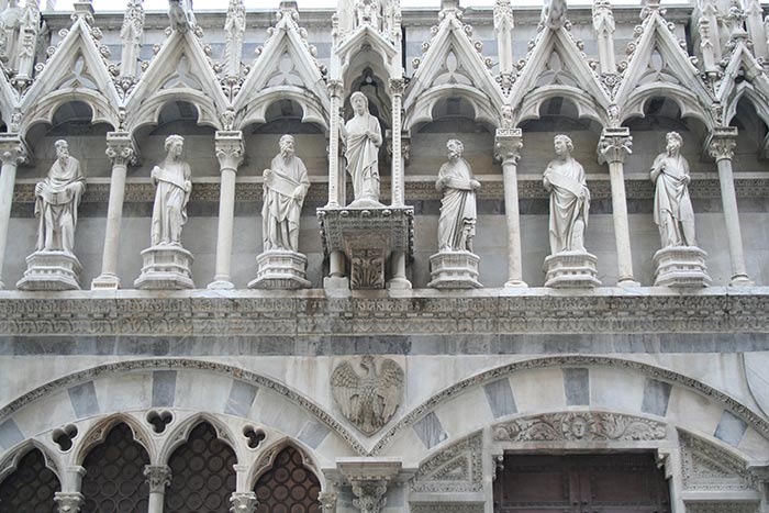
[[[264,172],[263,237],[266,252],[296,253],[299,249],[299,218],[310,179],[304,163],[294,154],[293,136],[283,135],[279,145],[280,153]]]

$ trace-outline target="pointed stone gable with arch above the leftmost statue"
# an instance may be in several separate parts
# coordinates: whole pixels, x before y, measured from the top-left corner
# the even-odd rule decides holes
[[[81,83],[74,75],[75,64],[82,59],[80,73],[88,73],[89,83]],[[68,83],[70,77],[75,80]],[[62,87],[64,86],[64,87]],[[79,18],[35,78],[20,102],[25,113],[21,133],[41,121],[53,119],[54,111],[76,98],[91,107],[93,121],[119,125],[119,108],[122,104],[107,65],[99,53],[87,22]]]

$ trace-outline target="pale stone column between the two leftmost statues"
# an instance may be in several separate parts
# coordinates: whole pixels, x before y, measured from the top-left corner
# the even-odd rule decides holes
[[[104,253],[101,258],[101,275],[91,281],[91,290],[120,288],[118,253],[120,249],[120,225],[123,220],[123,199],[125,198],[125,175],[129,165],[136,164],[136,152],[131,134],[108,132],[107,156],[112,160],[112,178],[110,179],[110,200],[107,207]]]

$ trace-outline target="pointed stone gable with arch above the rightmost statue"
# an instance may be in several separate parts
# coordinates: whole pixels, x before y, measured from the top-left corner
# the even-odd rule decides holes
[[[614,102],[622,108],[621,121],[643,115],[644,103],[649,98],[659,96],[655,94],[657,90],[676,100],[682,116],[698,118],[709,129],[715,126],[715,120],[709,109],[715,98],[700,78],[700,71],[691,63],[689,55],[680,47],[665,19],[658,11],[653,11],[642,26],[643,34],[636,42],[636,48],[615,94]],[[666,73],[680,83],[660,80],[642,82],[655,49],[667,65]]]

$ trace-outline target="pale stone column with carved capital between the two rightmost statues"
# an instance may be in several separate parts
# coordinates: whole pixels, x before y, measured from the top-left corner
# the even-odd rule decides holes
[[[627,221],[627,200],[625,199],[625,157],[632,152],[633,137],[626,127],[603,129],[598,146],[598,159],[609,164],[609,179],[612,188],[612,210],[614,214],[614,241],[616,242],[616,260],[620,287],[638,287],[633,278],[633,254],[631,252],[631,230]]]

